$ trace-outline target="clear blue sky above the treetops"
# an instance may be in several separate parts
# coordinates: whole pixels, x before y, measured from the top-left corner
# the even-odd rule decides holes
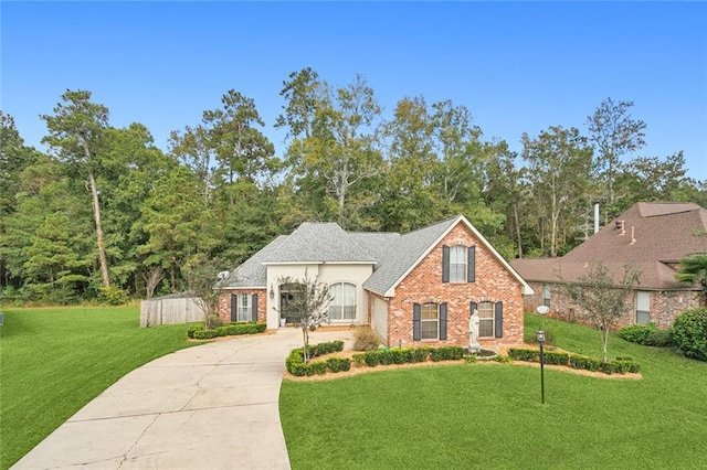
[[[639,156],[685,151],[707,179],[706,2],[0,2],[1,109],[28,145],[67,88],[89,89],[113,126],[158,147],[233,88],[264,133],[283,81],[357,73],[391,116],[404,96],[466,106],[486,138],[520,150],[549,126],[587,130],[602,99],[647,124]]]

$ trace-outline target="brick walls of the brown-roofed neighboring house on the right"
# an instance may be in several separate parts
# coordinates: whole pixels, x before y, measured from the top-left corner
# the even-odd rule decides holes
[[[535,293],[525,297],[525,310],[535,312],[536,307],[542,305],[544,282],[528,282]],[[564,297],[560,287],[556,284],[550,286],[550,312],[548,317],[558,318],[564,321],[587,323],[583,321],[584,311]],[[635,323],[635,296],[626,299],[629,303],[626,314],[618,323],[616,329]],[[698,291],[690,290],[666,290],[651,291],[651,321],[661,329],[673,327],[675,318],[687,309],[700,306]]]

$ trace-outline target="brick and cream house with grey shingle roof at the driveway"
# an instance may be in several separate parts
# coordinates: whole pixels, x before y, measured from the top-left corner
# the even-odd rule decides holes
[[[298,286],[281,281],[305,271],[329,286],[333,324],[370,324],[388,346],[466,346],[473,309],[482,345],[523,343],[523,296],[532,290],[464,216],[404,235],[304,223],[215,286],[221,319],[268,329],[294,320],[287,301]]]

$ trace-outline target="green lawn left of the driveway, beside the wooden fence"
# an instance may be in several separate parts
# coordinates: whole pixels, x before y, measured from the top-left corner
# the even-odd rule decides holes
[[[139,328],[138,308],[4,310],[0,468],[134,368],[187,348],[183,324]]]

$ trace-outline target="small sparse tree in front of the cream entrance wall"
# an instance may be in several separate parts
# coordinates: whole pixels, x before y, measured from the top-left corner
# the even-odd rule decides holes
[[[287,312],[296,318],[296,324],[302,329],[304,341],[304,361],[309,363],[309,332],[324,323],[329,323],[329,287],[307,275],[303,279],[281,277],[279,285],[298,285],[302,287],[289,300]]]

